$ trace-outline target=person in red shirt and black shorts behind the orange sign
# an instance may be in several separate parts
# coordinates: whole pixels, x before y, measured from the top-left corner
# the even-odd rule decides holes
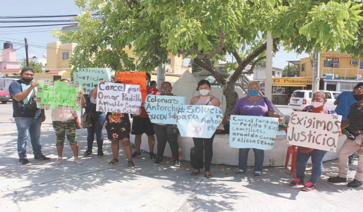
[[[157,88],[149,86],[149,82],[151,79],[150,73],[146,73],[146,86],[147,86],[147,94],[159,95],[160,91]],[[131,134],[135,135],[135,152],[132,154],[132,158],[141,156],[141,137],[142,134],[146,133],[147,141],[149,143],[149,157],[150,160],[155,160],[156,156],[154,154],[154,124],[151,123],[149,117],[147,116],[147,112],[143,106],[141,106],[141,113],[138,116],[132,118],[132,129]]]

